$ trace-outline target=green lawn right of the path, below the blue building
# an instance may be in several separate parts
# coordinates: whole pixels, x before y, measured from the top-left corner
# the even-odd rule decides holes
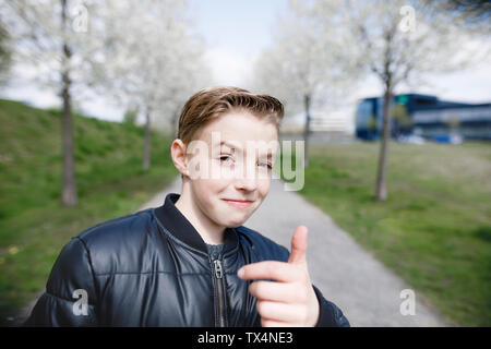
[[[447,320],[491,325],[491,144],[391,143],[383,203],[373,200],[379,144],[310,149],[300,194]]]

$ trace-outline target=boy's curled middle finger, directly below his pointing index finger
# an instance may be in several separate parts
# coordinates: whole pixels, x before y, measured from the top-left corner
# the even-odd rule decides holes
[[[291,282],[255,281],[249,285],[249,292],[260,301],[304,303],[308,298],[304,288]]]

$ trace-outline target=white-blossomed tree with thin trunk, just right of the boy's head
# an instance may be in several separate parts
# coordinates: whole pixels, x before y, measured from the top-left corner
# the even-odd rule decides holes
[[[342,48],[349,45],[349,37],[336,29],[337,19],[312,25],[301,2],[290,1],[290,10],[276,25],[274,44],[255,62],[251,85],[282,99],[289,113],[303,110],[308,168],[311,110],[332,106],[351,85],[356,69],[348,65],[349,50]]]

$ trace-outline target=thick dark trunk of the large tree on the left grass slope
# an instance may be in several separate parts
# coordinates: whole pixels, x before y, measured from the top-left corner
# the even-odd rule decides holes
[[[63,28],[67,22],[67,0],[61,1],[61,21]],[[71,110],[71,95],[70,95],[70,71],[69,61],[71,51],[67,43],[63,43],[63,60],[64,67],[61,72],[61,97],[63,99],[63,115],[61,117],[61,132],[62,132],[62,152],[63,152],[63,190],[61,194],[61,202],[65,206],[75,206],[79,202],[75,182],[75,161],[73,158],[73,121]]]

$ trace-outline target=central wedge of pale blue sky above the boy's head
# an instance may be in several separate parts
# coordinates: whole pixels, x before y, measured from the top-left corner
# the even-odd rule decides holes
[[[240,85],[251,63],[272,43],[276,17],[288,0],[193,0],[197,32],[208,47],[206,60],[218,84]]]

